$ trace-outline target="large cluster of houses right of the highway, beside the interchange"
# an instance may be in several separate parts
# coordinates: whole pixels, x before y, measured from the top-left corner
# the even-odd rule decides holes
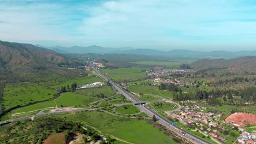
[[[205,135],[210,135],[214,139],[225,142],[226,139],[220,136],[219,130],[224,128],[212,121],[212,118],[219,119],[222,114],[215,114],[212,112],[203,113],[207,108],[199,105],[194,106],[182,106],[182,109],[176,113],[172,113],[172,118],[177,118],[182,124],[191,125],[195,124],[196,128],[204,133]],[[190,126],[189,126],[190,125]]]

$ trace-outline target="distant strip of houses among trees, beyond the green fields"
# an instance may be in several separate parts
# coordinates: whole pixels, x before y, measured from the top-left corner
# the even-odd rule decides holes
[[[187,69],[161,69],[161,70],[150,70],[147,71],[148,77],[164,77],[164,76],[170,76],[172,74],[182,75],[184,73],[188,72],[195,72],[195,70],[187,70]]]

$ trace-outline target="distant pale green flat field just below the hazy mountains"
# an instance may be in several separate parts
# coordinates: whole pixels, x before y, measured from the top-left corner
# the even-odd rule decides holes
[[[168,68],[179,68],[179,65],[183,63],[188,63],[188,62],[154,62],[154,61],[139,61],[139,62],[131,62],[131,63],[136,63],[136,64],[143,64],[143,65],[160,65],[160,66],[166,66]],[[190,63],[190,62],[189,62]]]

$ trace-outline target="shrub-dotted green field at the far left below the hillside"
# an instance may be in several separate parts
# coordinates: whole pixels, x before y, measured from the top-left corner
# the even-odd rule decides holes
[[[8,83],[4,88],[3,105],[5,109],[25,105],[34,101],[53,98],[54,89],[45,88],[36,83]]]

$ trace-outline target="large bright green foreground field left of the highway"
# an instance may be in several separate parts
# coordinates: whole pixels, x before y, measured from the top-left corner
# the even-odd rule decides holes
[[[77,112],[53,117],[90,125],[103,134],[109,134],[132,143],[176,143],[170,137],[144,120],[113,117],[103,112]]]

